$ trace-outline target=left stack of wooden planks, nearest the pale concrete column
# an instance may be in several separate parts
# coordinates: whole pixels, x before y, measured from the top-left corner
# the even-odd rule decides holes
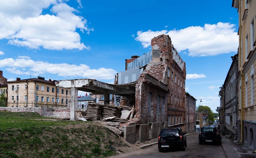
[[[100,120],[102,118],[103,106],[101,104],[88,104],[86,115],[87,121]]]

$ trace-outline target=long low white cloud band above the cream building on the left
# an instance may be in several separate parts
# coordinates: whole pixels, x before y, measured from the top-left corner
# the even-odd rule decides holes
[[[53,64],[30,59],[12,58],[0,60],[0,67],[7,67],[5,70],[13,74],[38,76],[39,74],[50,73],[72,78],[82,77],[106,80],[113,80],[117,73],[117,71],[111,68],[90,69],[90,67],[85,64]]]

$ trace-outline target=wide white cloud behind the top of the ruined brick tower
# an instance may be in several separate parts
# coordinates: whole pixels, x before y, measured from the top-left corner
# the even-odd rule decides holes
[[[135,40],[144,48],[150,46],[151,39],[167,34],[178,52],[188,50],[189,56],[214,56],[237,52],[238,36],[234,24],[217,23],[201,26],[191,26],[180,30],[138,31]]]

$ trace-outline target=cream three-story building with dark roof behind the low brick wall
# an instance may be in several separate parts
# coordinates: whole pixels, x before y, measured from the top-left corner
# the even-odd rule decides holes
[[[67,107],[70,100],[70,88],[60,88],[56,80],[45,78],[17,78],[7,82],[8,107]]]

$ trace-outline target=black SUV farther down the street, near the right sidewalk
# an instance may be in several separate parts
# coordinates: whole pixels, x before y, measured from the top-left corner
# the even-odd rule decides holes
[[[198,136],[199,144],[202,144],[203,142],[221,144],[222,138],[219,132],[220,131],[216,127],[202,127]]]

